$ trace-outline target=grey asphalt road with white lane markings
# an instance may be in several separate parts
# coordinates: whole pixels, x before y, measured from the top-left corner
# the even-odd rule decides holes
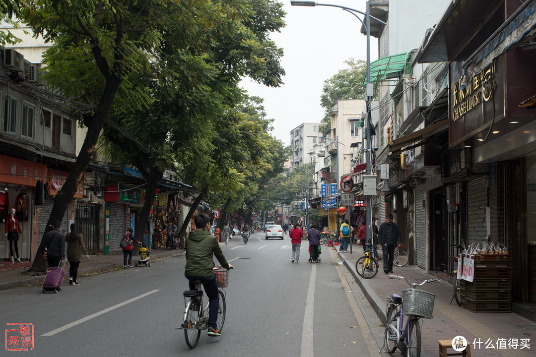
[[[184,255],[154,260],[152,267],[120,269],[80,277],[58,294],[40,287],[0,292],[0,323],[31,323],[34,355],[68,356],[352,356],[370,355],[377,345],[363,324],[351,282],[327,247],[322,263],[308,263],[308,243],[299,264],[292,246],[252,234],[221,246],[235,269],[226,290],[227,315],[221,337],[206,331],[190,350],[182,323]],[[358,299],[359,300],[359,299]],[[366,300],[366,299],[365,299]],[[368,334],[368,335],[367,335]],[[365,335],[365,337],[363,337]],[[367,344],[368,341],[368,344]],[[5,351],[5,355],[16,354]],[[4,353],[2,353],[4,355]]]

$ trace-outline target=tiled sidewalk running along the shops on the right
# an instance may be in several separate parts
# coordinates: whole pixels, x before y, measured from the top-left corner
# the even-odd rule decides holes
[[[409,287],[408,284],[405,280],[389,279],[389,276],[383,272],[383,261],[379,261],[380,271],[374,278],[361,278],[355,272],[355,263],[363,254],[361,247],[355,247],[353,254],[338,254],[352,272],[378,316],[384,321],[386,297],[393,293],[401,294],[402,290]],[[390,274],[421,280],[436,278],[418,267],[409,265],[394,266],[393,273]],[[528,357],[536,355],[535,323],[513,313],[473,313],[459,307],[456,301],[450,304],[452,284],[443,280],[425,284],[420,288],[436,295],[434,318],[423,320],[422,323],[422,349],[426,355],[438,355],[437,340],[452,339],[456,336],[463,336],[471,343],[476,342],[475,346],[471,346],[472,356]],[[373,326],[370,327],[373,328]],[[374,326],[374,328],[377,327]],[[509,348],[508,341],[515,343],[516,339],[517,349]],[[530,349],[520,348],[522,340],[528,343]],[[491,348],[492,346],[495,348]]]

